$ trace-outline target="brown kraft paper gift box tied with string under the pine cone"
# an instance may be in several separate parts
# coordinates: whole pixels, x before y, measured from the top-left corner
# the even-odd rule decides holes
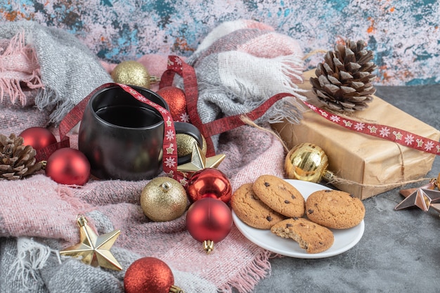
[[[304,84],[300,84],[300,88],[311,89],[309,78],[314,76],[313,72],[305,72]],[[311,98],[313,95],[313,92],[307,91],[304,96]],[[375,96],[368,105],[367,109],[354,112],[349,118],[394,126],[439,141],[438,130],[381,98]],[[299,143],[314,143],[321,147],[328,156],[328,170],[336,178],[342,179],[342,183],[333,183],[335,187],[362,200],[403,185],[406,181],[422,178],[431,170],[436,156],[344,129],[312,110],[304,112],[300,124],[283,122],[273,124],[273,128],[278,131],[288,148]]]

